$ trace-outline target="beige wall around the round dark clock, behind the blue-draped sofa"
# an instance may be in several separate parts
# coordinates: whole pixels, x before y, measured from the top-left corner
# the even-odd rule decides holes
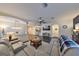
[[[73,29],[73,18],[75,18],[78,15],[78,11],[69,11],[67,13],[63,13],[59,17],[55,18],[52,21],[53,24],[59,25],[59,34],[65,34],[71,36],[72,29]],[[63,29],[63,25],[67,25],[67,29]]]

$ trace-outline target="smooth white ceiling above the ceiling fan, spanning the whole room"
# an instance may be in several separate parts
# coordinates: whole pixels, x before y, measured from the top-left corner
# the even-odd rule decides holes
[[[39,17],[51,19],[62,16],[76,16],[79,14],[79,4],[77,3],[49,3],[48,7],[43,8],[42,3],[17,3],[0,4],[0,12],[8,13],[26,20],[36,20]],[[73,17],[74,18],[74,17]]]

